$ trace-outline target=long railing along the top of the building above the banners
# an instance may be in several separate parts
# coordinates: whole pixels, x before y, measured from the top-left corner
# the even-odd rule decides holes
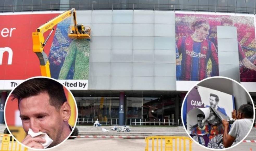
[[[19,11],[53,11],[68,10],[172,10],[172,11],[210,11],[228,13],[255,14],[255,7],[231,7],[218,5],[175,5],[175,4],[143,4],[143,3],[107,3],[107,4],[51,4],[51,5],[9,5],[0,6],[0,12]]]

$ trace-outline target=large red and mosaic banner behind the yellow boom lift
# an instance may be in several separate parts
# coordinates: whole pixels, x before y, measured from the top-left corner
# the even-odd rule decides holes
[[[59,13],[0,15],[0,89],[11,90],[24,79],[41,75],[39,59],[32,50],[32,32]],[[70,24],[71,17],[54,27],[44,51],[52,78],[60,79],[71,90],[87,90],[90,41],[70,39]],[[45,39],[48,34],[44,34]]]

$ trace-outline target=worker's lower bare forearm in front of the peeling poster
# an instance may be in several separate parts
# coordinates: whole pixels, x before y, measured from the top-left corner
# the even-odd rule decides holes
[[[225,148],[228,148],[234,143],[235,137],[228,134],[229,123],[223,119],[222,124],[224,127],[224,133],[223,133],[223,137],[222,137],[223,145]]]

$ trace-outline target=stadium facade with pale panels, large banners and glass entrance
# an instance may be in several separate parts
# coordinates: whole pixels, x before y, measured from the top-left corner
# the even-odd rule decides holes
[[[103,124],[179,125],[186,92],[211,76],[240,82],[256,101],[254,0],[2,0],[1,107],[18,83],[41,75],[32,32],[70,8],[77,9],[79,24],[91,28],[91,40],[69,39],[69,18],[55,27],[45,52],[52,78],[76,98],[79,124],[98,119]],[[201,24],[205,37],[193,44],[192,35],[203,32],[197,30]],[[86,43],[82,50],[81,43]],[[76,56],[79,51],[87,62]],[[88,71],[79,70],[76,62]],[[237,106],[249,102],[229,83],[211,86],[233,95]]]

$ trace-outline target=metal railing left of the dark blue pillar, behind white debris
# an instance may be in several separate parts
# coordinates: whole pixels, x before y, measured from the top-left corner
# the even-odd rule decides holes
[[[95,121],[99,121],[102,125],[118,125],[118,118],[77,118],[77,125],[95,123]]]

